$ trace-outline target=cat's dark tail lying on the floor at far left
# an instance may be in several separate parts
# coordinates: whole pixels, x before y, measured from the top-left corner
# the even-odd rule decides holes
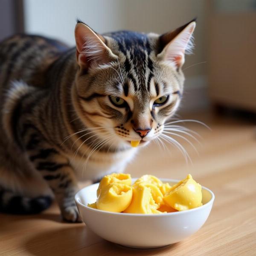
[[[23,197],[10,190],[0,188],[0,212],[11,214],[36,214],[52,204],[52,197],[42,195],[35,198]]]

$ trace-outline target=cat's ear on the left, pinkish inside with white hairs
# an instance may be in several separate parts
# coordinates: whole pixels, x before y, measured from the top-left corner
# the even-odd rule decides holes
[[[83,69],[107,64],[117,58],[105,44],[105,38],[82,22],[76,24],[75,39],[77,62]]]

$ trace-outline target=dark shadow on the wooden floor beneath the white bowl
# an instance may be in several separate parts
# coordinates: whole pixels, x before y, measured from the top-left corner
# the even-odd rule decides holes
[[[105,241],[84,224],[58,227],[31,237],[24,244],[28,254],[35,256],[148,256],[172,252],[177,244],[155,249],[133,249]]]

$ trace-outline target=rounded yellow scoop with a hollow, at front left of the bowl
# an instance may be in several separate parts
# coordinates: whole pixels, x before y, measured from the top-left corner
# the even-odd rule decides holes
[[[131,204],[131,186],[111,183],[101,190],[96,201],[97,209],[109,212],[122,212]]]

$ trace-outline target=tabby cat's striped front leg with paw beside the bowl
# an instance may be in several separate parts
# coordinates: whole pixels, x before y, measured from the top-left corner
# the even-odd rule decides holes
[[[64,220],[81,222],[74,200],[78,186],[69,160],[42,141],[40,135],[31,136],[33,136],[32,140],[26,142],[30,162],[54,192]]]

